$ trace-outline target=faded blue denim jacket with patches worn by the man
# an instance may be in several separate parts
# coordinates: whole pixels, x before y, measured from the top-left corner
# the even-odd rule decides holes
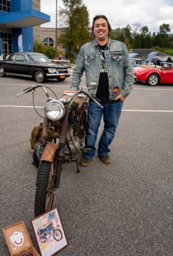
[[[134,81],[132,62],[126,45],[120,41],[110,40],[105,48],[105,62],[109,79],[109,100],[115,100],[119,94],[127,97],[132,91]],[[98,86],[100,76],[101,53],[97,41],[90,41],[81,46],[73,71],[71,90],[79,88],[81,76],[86,73],[86,85],[91,82]],[[89,89],[90,94],[96,95],[96,89]]]

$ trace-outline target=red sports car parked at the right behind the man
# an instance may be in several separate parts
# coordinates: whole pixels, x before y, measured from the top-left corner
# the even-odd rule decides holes
[[[173,85],[173,63],[161,62],[161,66],[141,65],[133,68],[135,80],[146,82],[148,85],[158,84]]]

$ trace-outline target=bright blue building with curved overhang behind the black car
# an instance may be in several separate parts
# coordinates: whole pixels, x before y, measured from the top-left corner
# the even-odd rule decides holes
[[[50,16],[40,12],[40,0],[0,0],[0,57],[32,51],[33,28],[36,35],[40,24],[49,21]]]

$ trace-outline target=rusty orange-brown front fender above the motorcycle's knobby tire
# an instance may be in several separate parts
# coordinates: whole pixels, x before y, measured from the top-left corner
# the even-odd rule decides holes
[[[48,162],[53,162],[54,159],[54,155],[56,153],[58,149],[58,146],[56,145],[56,143],[48,143],[45,146],[45,149],[43,151],[43,154],[41,155],[40,160],[41,161],[48,161]]]

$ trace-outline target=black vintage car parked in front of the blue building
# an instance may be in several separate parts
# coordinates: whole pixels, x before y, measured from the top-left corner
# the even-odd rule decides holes
[[[47,78],[64,81],[72,73],[71,67],[51,62],[43,53],[11,53],[0,61],[0,77],[6,75],[28,76],[42,83]]]

